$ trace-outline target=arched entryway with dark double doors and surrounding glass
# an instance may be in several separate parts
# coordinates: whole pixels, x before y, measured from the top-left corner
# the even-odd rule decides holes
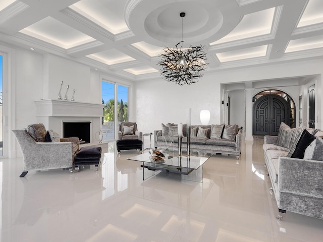
[[[295,103],[285,92],[265,90],[253,102],[253,135],[278,135],[282,122],[295,127]]]

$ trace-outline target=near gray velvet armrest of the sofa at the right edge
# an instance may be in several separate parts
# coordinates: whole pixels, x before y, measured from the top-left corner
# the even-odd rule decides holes
[[[323,198],[323,161],[279,157],[281,192]]]

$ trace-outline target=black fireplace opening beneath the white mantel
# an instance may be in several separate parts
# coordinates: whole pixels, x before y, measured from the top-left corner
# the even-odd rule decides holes
[[[90,143],[90,124],[91,122],[64,122],[64,138],[78,137],[81,143]]]

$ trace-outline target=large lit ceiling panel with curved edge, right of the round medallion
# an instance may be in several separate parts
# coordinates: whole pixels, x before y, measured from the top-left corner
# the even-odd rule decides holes
[[[270,34],[272,31],[274,13],[275,8],[271,8],[247,14],[243,16],[241,22],[230,34],[218,41],[210,43],[210,45]]]

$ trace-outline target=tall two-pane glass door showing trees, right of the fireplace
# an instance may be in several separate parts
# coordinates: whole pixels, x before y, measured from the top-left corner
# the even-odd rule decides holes
[[[128,121],[128,94],[129,87],[102,81],[102,104],[105,104],[102,118],[103,140],[114,140],[118,125]]]

